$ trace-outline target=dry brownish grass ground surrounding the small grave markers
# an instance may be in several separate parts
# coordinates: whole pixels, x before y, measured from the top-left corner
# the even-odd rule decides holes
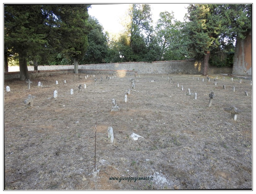
[[[134,76],[95,75],[95,85],[93,75],[73,75],[38,77],[30,89],[25,81],[4,81],[11,90],[4,90],[5,190],[252,189],[250,80],[137,75],[125,103]],[[33,107],[24,104],[29,94]],[[112,99],[118,111],[111,112]],[[241,110],[236,121],[224,110],[231,106]]]

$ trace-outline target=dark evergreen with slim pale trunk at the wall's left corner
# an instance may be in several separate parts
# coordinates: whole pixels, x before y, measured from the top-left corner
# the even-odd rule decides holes
[[[78,60],[87,51],[87,35],[91,30],[88,22],[90,5],[56,5],[54,13],[59,21],[59,40],[61,53],[74,60],[74,72],[78,73]]]

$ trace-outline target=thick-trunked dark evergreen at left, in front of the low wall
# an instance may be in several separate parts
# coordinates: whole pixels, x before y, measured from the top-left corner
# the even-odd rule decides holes
[[[19,55],[20,80],[29,79],[28,56],[44,44],[41,5],[4,5],[4,44]]]

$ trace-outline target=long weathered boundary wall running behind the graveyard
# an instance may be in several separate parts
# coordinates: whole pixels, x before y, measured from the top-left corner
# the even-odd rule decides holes
[[[28,66],[31,78],[49,76],[51,74],[74,73],[74,65],[47,65],[38,66],[38,71],[33,71],[33,66]],[[155,61],[149,62],[127,62],[109,64],[84,64],[78,65],[78,73],[85,74],[107,74],[117,76],[137,74],[202,74],[201,63],[194,60],[179,61]],[[210,74],[232,73],[232,68],[213,68]],[[19,79],[20,72],[5,72],[4,80]]]

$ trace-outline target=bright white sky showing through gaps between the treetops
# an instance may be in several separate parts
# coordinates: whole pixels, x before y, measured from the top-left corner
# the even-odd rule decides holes
[[[105,31],[108,31],[109,33],[118,33],[123,29],[120,21],[129,8],[129,5],[130,4],[128,3],[107,5],[95,4],[88,9],[88,13],[89,15],[94,16],[99,23],[103,25]],[[173,11],[174,18],[183,22],[185,13],[187,13],[185,7],[188,7],[188,4],[185,3],[151,3],[150,5],[154,22],[157,22],[160,12],[163,11]]]

